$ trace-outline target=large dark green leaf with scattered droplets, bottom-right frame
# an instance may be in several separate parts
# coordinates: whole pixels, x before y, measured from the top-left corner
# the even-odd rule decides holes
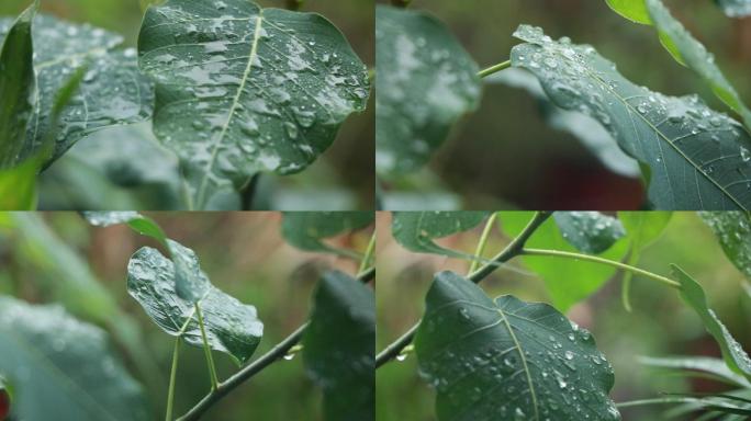
[[[547,304],[436,275],[415,338],[439,420],[619,420],[592,334]]]

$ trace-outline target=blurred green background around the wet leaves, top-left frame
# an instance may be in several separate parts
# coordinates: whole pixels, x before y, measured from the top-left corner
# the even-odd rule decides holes
[[[89,23],[125,37],[125,46],[136,45],[143,16],[142,3],[154,0],[42,0],[42,11],[77,23]],[[264,7],[284,7],[285,0],[257,0]],[[14,16],[30,0],[0,1],[0,16]],[[310,0],[303,11],[329,19],[345,34],[362,61],[374,64],[374,11],[372,0]],[[254,209],[352,210],[373,208],[374,189],[374,100],[362,114],[350,116],[337,139],[315,163],[290,177],[261,177]],[[148,128],[148,125],[147,127]],[[115,136],[105,132],[104,137]],[[147,130],[148,133],[148,130]],[[126,135],[127,136],[127,135]],[[126,141],[125,137],[121,141]],[[180,206],[168,183],[133,186],[122,177],[108,177],[96,162],[90,139],[74,147],[44,173],[42,209],[170,209]],[[85,145],[85,143],[87,145]],[[92,144],[92,145],[89,145]],[[77,153],[77,149],[80,152]],[[135,152],[132,158],[137,159]],[[100,158],[100,160],[103,158]]]

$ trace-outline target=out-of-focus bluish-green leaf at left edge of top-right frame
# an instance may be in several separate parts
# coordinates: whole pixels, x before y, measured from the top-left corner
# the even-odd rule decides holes
[[[375,7],[375,168],[423,167],[455,123],[480,104],[478,65],[436,18]]]

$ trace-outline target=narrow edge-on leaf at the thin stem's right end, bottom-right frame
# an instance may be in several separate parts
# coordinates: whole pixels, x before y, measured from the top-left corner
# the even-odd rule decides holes
[[[676,281],[681,283],[681,297],[699,316],[707,332],[715,338],[722,351],[722,359],[730,369],[751,379],[751,359],[730,334],[715,311],[707,304],[702,285],[679,266],[671,265]]]

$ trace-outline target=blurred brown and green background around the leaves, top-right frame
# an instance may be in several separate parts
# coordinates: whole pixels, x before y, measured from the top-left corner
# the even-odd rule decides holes
[[[729,19],[710,0],[664,2],[751,103],[751,19]],[[553,38],[593,45],[638,84],[671,95],[698,93],[728,112],[662,48],[653,27],[627,21],[604,0],[414,0],[410,8],[445,22],[481,68],[506,60],[519,43],[512,33],[528,23]],[[574,137],[548,127],[531,95],[498,83],[485,86],[480,110],[460,122],[424,171],[384,189],[445,192],[429,196],[436,206],[466,209],[637,209],[644,201],[638,179],[608,171]],[[402,205],[411,207],[404,197]]]

